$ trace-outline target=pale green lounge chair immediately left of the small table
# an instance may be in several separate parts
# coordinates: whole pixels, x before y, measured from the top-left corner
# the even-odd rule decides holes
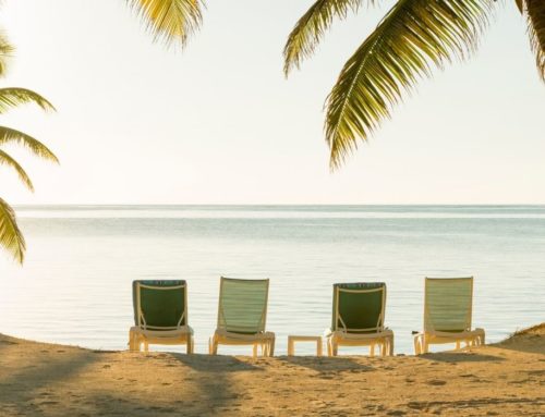
[[[252,345],[264,356],[275,354],[275,333],[265,331],[269,280],[220,280],[218,324],[209,340],[209,353],[216,355],[218,345]]]

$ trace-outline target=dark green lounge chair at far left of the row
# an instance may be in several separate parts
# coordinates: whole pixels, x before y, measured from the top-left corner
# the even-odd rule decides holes
[[[193,329],[187,326],[187,284],[181,280],[133,282],[134,327],[129,331],[129,348],[144,344],[185,344],[193,353]]]

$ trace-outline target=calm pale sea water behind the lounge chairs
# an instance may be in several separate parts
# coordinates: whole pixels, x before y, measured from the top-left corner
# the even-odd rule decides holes
[[[386,323],[397,353],[412,353],[426,275],[475,277],[473,323],[486,329],[488,341],[545,321],[542,206],[50,206],[17,212],[28,253],[22,268],[0,259],[0,332],[21,338],[125,348],[131,282],[185,279],[196,352],[205,353],[221,274],[270,278],[267,327],[277,333],[278,354],[286,353],[288,334],[322,334],[329,326],[334,282],[387,283]],[[311,352],[298,345],[298,353]]]

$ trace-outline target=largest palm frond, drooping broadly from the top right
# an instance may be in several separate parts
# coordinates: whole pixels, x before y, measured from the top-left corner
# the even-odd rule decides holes
[[[344,64],[326,100],[326,139],[338,168],[420,78],[477,46],[493,0],[399,0]]]

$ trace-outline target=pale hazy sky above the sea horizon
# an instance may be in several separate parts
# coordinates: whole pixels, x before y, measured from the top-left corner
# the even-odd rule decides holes
[[[5,0],[16,47],[1,86],[57,108],[1,114],[60,165],[4,147],[11,204],[545,204],[545,85],[508,1],[477,53],[424,79],[329,171],[324,101],[384,8],[336,22],[288,79],[282,48],[307,0],[208,0],[184,50],[154,42],[123,0]]]

